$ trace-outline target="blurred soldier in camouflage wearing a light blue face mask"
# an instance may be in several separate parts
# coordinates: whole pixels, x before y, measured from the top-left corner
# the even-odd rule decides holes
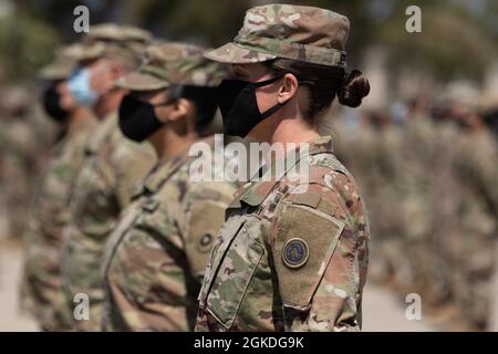
[[[132,72],[149,42],[148,32],[136,28],[101,24],[90,29],[77,56],[81,67],[69,79],[70,92],[91,105],[100,123],[85,143],[85,157],[70,202],[70,220],[63,232],[63,290],[69,309],[74,296],[90,300],[90,319],[73,321],[74,329],[101,327],[104,291],[101,263],[104,243],[120,212],[129,204],[135,185],[155,163],[148,144],[136,144],[121,133],[117,108],[126,90],[114,82]]]

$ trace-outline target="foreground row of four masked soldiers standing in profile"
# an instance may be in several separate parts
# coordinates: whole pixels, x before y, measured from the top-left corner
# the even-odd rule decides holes
[[[370,91],[345,72],[349,30],[330,10],[269,4],[215,51],[116,24],[61,50],[41,77],[65,134],[24,232],[21,294],[40,326],[360,330],[369,221],[318,133],[335,96],[356,107]],[[309,181],[272,168],[246,184],[193,181],[188,150],[212,147],[218,104],[229,135],[308,142],[293,164],[309,165]]]

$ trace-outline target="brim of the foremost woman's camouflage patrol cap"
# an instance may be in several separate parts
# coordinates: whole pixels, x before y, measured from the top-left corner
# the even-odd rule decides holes
[[[272,54],[249,50],[236,43],[227,43],[214,51],[207,52],[204,56],[216,62],[230,64],[260,63],[277,58]]]

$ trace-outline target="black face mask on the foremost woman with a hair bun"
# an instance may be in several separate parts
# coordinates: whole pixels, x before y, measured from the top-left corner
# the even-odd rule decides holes
[[[246,137],[261,121],[289,102],[278,103],[263,113],[259,112],[256,88],[272,84],[280,79],[274,77],[261,82],[224,80],[218,86],[218,100],[225,133],[231,136]]]

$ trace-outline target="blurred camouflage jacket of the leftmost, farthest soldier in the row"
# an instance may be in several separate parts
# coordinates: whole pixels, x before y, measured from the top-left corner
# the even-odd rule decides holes
[[[84,142],[93,132],[91,117],[54,147],[34,199],[24,241],[27,256],[22,295],[42,329],[65,329],[55,309],[63,303],[61,290],[62,230],[69,220],[69,200],[84,157]]]

